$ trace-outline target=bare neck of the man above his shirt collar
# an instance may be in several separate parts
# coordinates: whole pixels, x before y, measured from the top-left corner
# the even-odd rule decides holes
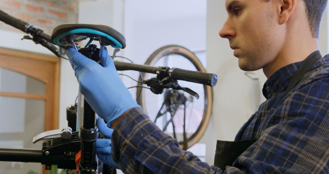
[[[304,39],[302,42],[289,42],[284,45],[276,58],[263,67],[263,72],[269,78],[274,72],[289,64],[305,60],[312,52],[319,50],[318,39]]]

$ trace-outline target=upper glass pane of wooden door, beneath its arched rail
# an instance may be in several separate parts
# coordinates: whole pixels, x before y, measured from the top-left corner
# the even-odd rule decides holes
[[[45,94],[45,83],[6,68],[0,68],[0,91]]]

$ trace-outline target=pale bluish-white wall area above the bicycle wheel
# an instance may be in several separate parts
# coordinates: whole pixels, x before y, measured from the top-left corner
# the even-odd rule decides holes
[[[178,44],[190,50],[206,46],[206,2],[197,0],[126,0],[123,55],[143,64],[158,48]],[[136,72],[124,72],[138,79]],[[127,87],[136,82],[123,78]],[[134,97],[136,88],[130,89]]]

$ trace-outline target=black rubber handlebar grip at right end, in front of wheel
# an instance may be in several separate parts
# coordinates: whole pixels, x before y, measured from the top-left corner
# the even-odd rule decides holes
[[[185,80],[209,86],[215,86],[217,83],[217,75],[212,73],[189,71],[179,68],[172,68],[170,72],[170,77],[175,80]]]

